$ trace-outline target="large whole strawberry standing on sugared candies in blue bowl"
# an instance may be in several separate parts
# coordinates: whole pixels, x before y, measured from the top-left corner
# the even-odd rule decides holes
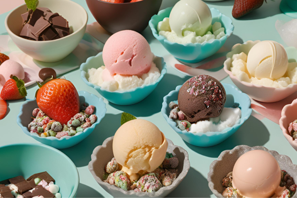
[[[36,100],[42,112],[62,125],[80,112],[78,93],[68,80],[54,79],[45,83],[37,91]]]

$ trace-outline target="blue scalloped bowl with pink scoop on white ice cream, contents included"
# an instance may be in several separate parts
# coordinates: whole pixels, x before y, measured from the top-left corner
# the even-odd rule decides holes
[[[132,30],[119,31],[103,51],[80,66],[82,79],[115,104],[135,104],[148,96],[166,73],[146,39]]]

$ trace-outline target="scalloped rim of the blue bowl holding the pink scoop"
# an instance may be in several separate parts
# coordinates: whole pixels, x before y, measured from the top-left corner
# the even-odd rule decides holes
[[[100,0],[99,0],[100,1]],[[160,70],[160,76],[159,76],[159,78],[156,80],[156,81],[154,81],[154,82],[152,82],[152,83],[149,83],[149,84],[146,84],[146,85],[141,85],[141,86],[139,86],[139,87],[135,87],[135,88],[132,88],[132,89],[128,89],[128,90],[124,90],[124,91],[118,91],[118,90],[116,90],[116,91],[109,91],[109,90],[107,90],[107,89],[103,89],[101,86],[98,86],[98,85],[94,85],[93,83],[90,83],[88,80],[87,80],[87,78],[86,78],[86,75],[87,75],[87,72],[85,71],[85,69],[87,69],[86,68],[86,65],[88,65],[89,64],[89,62],[91,61],[91,59],[93,59],[93,58],[98,58],[98,57],[100,57],[100,56],[102,56],[102,52],[99,52],[96,56],[91,56],[91,57],[89,57],[87,60],[86,60],[86,62],[85,63],[82,63],[81,65],[80,65],[80,71],[81,71],[81,75],[80,75],[80,77],[82,78],[82,80],[83,80],[83,82],[85,82],[87,85],[89,85],[90,87],[92,87],[92,88],[94,88],[94,89],[100,89],[101,91],[105,91],[105,92],[110,92],[110,93],[120,93],[120,94],[123,94],[123,93],[131,93],[131,92],[134,92],[134,91],[137,91],[138,89],[143,89],[143,88],[146,88],[146,87],[148,87],[148,86],[152,86],[152,85],[155,85],[155,84],[157,84],[157,83],[159,83],[161,80],[162,80],[162,78],[164,77],[164,75],[166,74],[166,72],[167,72],[167,65],[166,65],[166,63],[164,62],[164,58],[163,57],[159,57],[159,56],[154,56],[154,59],[156,59],[156,58],[160,58],[161,59],[161,67],[162,67],[162,69],[160,70],[158,67],[158,69]],[[153,60],[153,62],[154,62],[154,60]],[[155,62],[154,62],[155,63]],[[156,64],[157,65],[157,64]],[[105,66],[105,65],[104,65]],[[101,66],[98,66],[98,68],[99,67],[101,67]],[[93,67],[94,68],[94,67]],[[98,68],[96,68],[96,69],[98,69]]]

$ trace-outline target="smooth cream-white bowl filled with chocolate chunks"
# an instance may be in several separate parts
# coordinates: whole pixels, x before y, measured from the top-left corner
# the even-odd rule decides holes
[[[5,19],[5,28],[13,42],[27,55],[43,62],[56,62],[68,56],[77,47],[86,31],[88,14],[79,4],[70,0],[39,0],[37,7],[47,7],[69,22],[70,35],[53,41],[33,41],[19,37],[22,30],[21,14],[26,4],[12,10]]]

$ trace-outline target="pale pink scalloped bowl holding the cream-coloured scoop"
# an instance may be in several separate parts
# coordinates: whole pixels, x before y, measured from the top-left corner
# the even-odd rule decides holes
[[[277,102],[297,91],[297,84],[290,84],[285,88],[274,88],[266,87],[263,85],[257,85],[253,83],[248,83],[238,80],[236,76],[233,76],[231,67],[231,58],[233,54],[239,54],[244,52],[248,55],[249,50],[256,45],[260,40],[257,41],[247,41],[243,44],[236,44],[232,47],[231,52],[227,56],[227,60],[224,62],[224,70],[230,76],[232,82],[244,93],[248,94],[252,99],[260,102]],[[287,50],[287,48],[286,48]]]

